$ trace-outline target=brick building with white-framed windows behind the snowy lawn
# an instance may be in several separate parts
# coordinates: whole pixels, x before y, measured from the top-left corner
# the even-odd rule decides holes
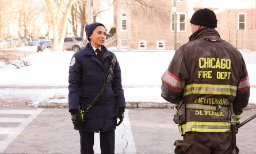
[[[216,30],[229,41],[230,30],[256,28],[256,0],[176,0],[177,46],[191,35],[190,18],[201,8],[213,10]],[[114,1],[117,48],[128,50],[171,50],[174,48],[173,0],[145,0],[148,7],[134,0]]]

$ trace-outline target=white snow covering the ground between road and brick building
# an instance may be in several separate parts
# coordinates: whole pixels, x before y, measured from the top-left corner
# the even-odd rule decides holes
[[[115,48],[113,48],[115,49]],[[73,51],[36,53],[36,46],[20,47],[28,52],[31,65],[17,69],[0,62],[0,100],[26,99],[33,105],[40,102],[68,101],[69,63]],[[114,52],[122,72],[122,83],[129,102],[166,102],[161,98],[161,76],[167,69],[174,51]],[[255,51],[241,50],[251,83],[249,103],[256,104]]]

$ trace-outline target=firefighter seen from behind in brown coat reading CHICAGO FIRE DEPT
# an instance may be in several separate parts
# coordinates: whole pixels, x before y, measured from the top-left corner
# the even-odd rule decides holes
[[[175,51],[161,77],[161,96],[177,105],[174,121],[183,136],[175,153],[231,154],[230,104],[238,124],[249,100],[244,59],[220,38],[213,11],[195,11],[190,23],[189,42]]]

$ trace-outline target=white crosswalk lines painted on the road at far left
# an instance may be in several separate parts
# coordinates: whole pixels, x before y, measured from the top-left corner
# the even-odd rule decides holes
[[[4,113],[3,111],[4,110],[0,110],[0,113]],[[13,111],[15,111],[16,114],[17,112],[19,112],[19,110],[13,110]],[[0,152],[3,153],[5,149],[9,146],[9,144],[11,144],[14,141],[14,139],[17,138],[17,136],[19,136],[19,134],[26,128],[26,126],[28,126],[28,124],[30,124],[42,111],[43,111],[43,108],[38,108],[36,110],[33,110],[32,113],[28,112],[31,115],[27,118],[16,118],[16,119],[24,119],[24,120],[21,122],[21,124],[18,127],[8,128],[10,130],[12,129],[12,131],[9,131],[9,135],[3,141],[0,141]],[[24,112],[24,110],[22,110],[21,112]],[[21,114],[25,114],[25,113],[21,113]],[[5,129],[0,128],[0,134],[6,134],[6,133],[8,133],[8,130],[6,128]]]

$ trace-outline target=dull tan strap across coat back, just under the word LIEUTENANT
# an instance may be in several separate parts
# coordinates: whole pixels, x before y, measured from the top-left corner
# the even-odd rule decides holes
[[[186,103],[187,109],[199,109],[199,110],[211,110],[216,111],[216,106],[211,105],[204,105],[204,104],[197,104],[197,103]],[[229,108],[221,106],[220,111],[221,112],[228,112]]]

